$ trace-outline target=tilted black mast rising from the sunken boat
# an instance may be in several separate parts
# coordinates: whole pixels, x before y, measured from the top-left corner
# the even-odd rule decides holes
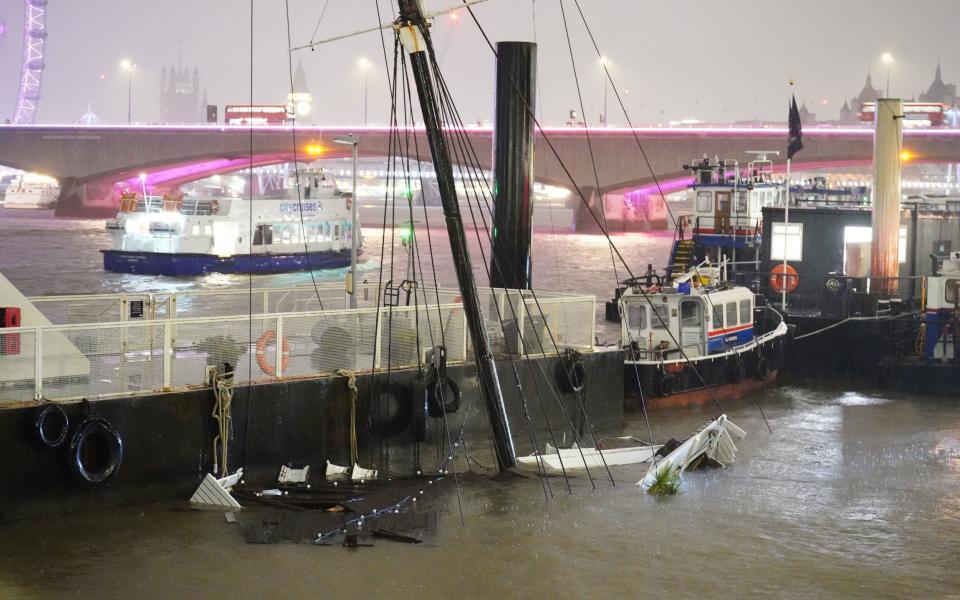
[[[398,0],[400,17],[396,30],[400,41],[410,54],[410,65],[417,85],[420,112],[423,115],[433,156],[433,168],[437,176],[440,200],[443,203],[443,215],[447,223],[450,238],[450,251],[453,265],[463,296],[463,310],[467,319],[470,338],[473,340],[474,356],[477,362],[477,376],[480,391],[487,405],[490,426],[493,429],[493,441],[497,454],[497,467],[506,471],[517,466],[517,452],[513,446],[510,423],[507,421],[506,404],[500,389],[497,367],[490,351],[490,341],[483,326],[483,314],[480,310],[480,298],[477,284],[473,278],[473,266],[467,249],[467,236],[463,230],[463,219],[457,201],[457,190],[453,178],[453,165],[450,152],[441,128],[437,96],[430,74],[430,60],[427,48],[430,46],[430,24],[424,17],[420,0]]]

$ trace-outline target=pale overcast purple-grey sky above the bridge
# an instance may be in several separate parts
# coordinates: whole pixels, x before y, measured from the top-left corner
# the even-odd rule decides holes
[[[289,89],[283,0],[254,0],[254,79],[257,103],[282,103]],[[455,0],[426,0],[440,9]],[[325,0],[290,0],[294,45],[307,42]],[[20,69],[21,0],[0,0],[0,116],[12,115]],[[531,0],[490,0],[474,8],[494,41],[533,40]],[[790,78],[799,101],[820,118],[837,117],[859,92],[867,70],[884,86],[880,55],[896,57],[891,93],[925,90],[938,58],[947,83],[960,82],[957,1],[924,0],[580,0],[617,86],[629,90],[638,122],[696,117],[729,122],[785,119]],[[385,19],[395,3],[380,0]],[[317,38],[376,24],[375,0],[329,0]],[[540,42],[542,113],[562,123],[576,106],[560,17],[560,0],[535,0]],[[603,105],[603,79],[572,0],[565,0],[587,112]],[[461,11],[463,13],[463,11]],[[160,70],[183,64],[200,70],[211,104],[245,103],[250,96],[249,2],[243,0],[55,0],[48,16],[47,69],[38,121],[72,122],[90,103],[107,122],[126,118],[122,58],[137,64],[133,117],[159,119]],[[485,120],[492,110],[493,58],[463,13],[437,20],[435,44],[461,114]],[[182,45],[181,45],[182,43]],[[392,48],[392,46],[391,46]],[[391,50],[392,51],[392,50]],[[357,61],[372,60],[370,120],[388,115],[386,70],[379,37],[367,34],[295,55],[303,60],[315,98],[314,120],[362,120]],[[101,77],[102,76],[102,77]],[[612,96],[611,96],[612,97]],[[816,105],[816,106],[814,106]],[[222,110],[222,109],[221,109]],[[662,111],[662,113],[661,113]],[[611,122],[623,121],[611,102]]]

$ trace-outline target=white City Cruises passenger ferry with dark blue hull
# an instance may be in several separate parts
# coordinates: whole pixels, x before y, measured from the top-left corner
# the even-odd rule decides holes
[[[283,198],[255,197],[252,203],[246,198],[124,194],[117,218],[106,224],[113,248],[103,251],[103,267],[116,273],[191,276],[348,266],[351,196],[323,175],[301,176],[300,188],[299,197],[288,190]]]

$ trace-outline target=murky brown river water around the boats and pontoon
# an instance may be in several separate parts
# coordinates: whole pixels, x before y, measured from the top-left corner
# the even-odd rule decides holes
[[[247,283],[104,274],[102,226],[3,213],[2,271],[31,295]],[[375,277],[380,231],[365,233],[364,271]],[[432,235],[439,263],[449,251],[441,233]],[[635,271],[662,264],[669,247],[665,234],[616,242]],[[538,287],[602,300],[613,286],[598,237],[537,234],[534,259]],[[449,268],[443,277],[452,283]],[[725,409],[749,433],[737,462],[688,473],[673,498],[636,488],[637,467],[614,468],[615,487],[600,474],[596,489],[578,477],[569,494],[554,479],[549,502],[536,479],[468,477],[460,481],[463,525],[455,488],[434,494],[442,511],[435,546],[356,550],[247,545],[219,513],[145,501],[4,525],[0,598],[960,597],[955,399],[791,385]],[[713,416],[710,408],[661,411],[650,425],[662,441]],[[628,415],[624,429],[647,437],[639,415]]]

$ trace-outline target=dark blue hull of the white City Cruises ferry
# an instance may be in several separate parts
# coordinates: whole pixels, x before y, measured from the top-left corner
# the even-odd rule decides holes
[[[103,250],[103,268],[113,273],[188,277],[207,273],[287,273],[315,269],[338,269],[350,265],[350,251],[293,254],[170,254]]]

